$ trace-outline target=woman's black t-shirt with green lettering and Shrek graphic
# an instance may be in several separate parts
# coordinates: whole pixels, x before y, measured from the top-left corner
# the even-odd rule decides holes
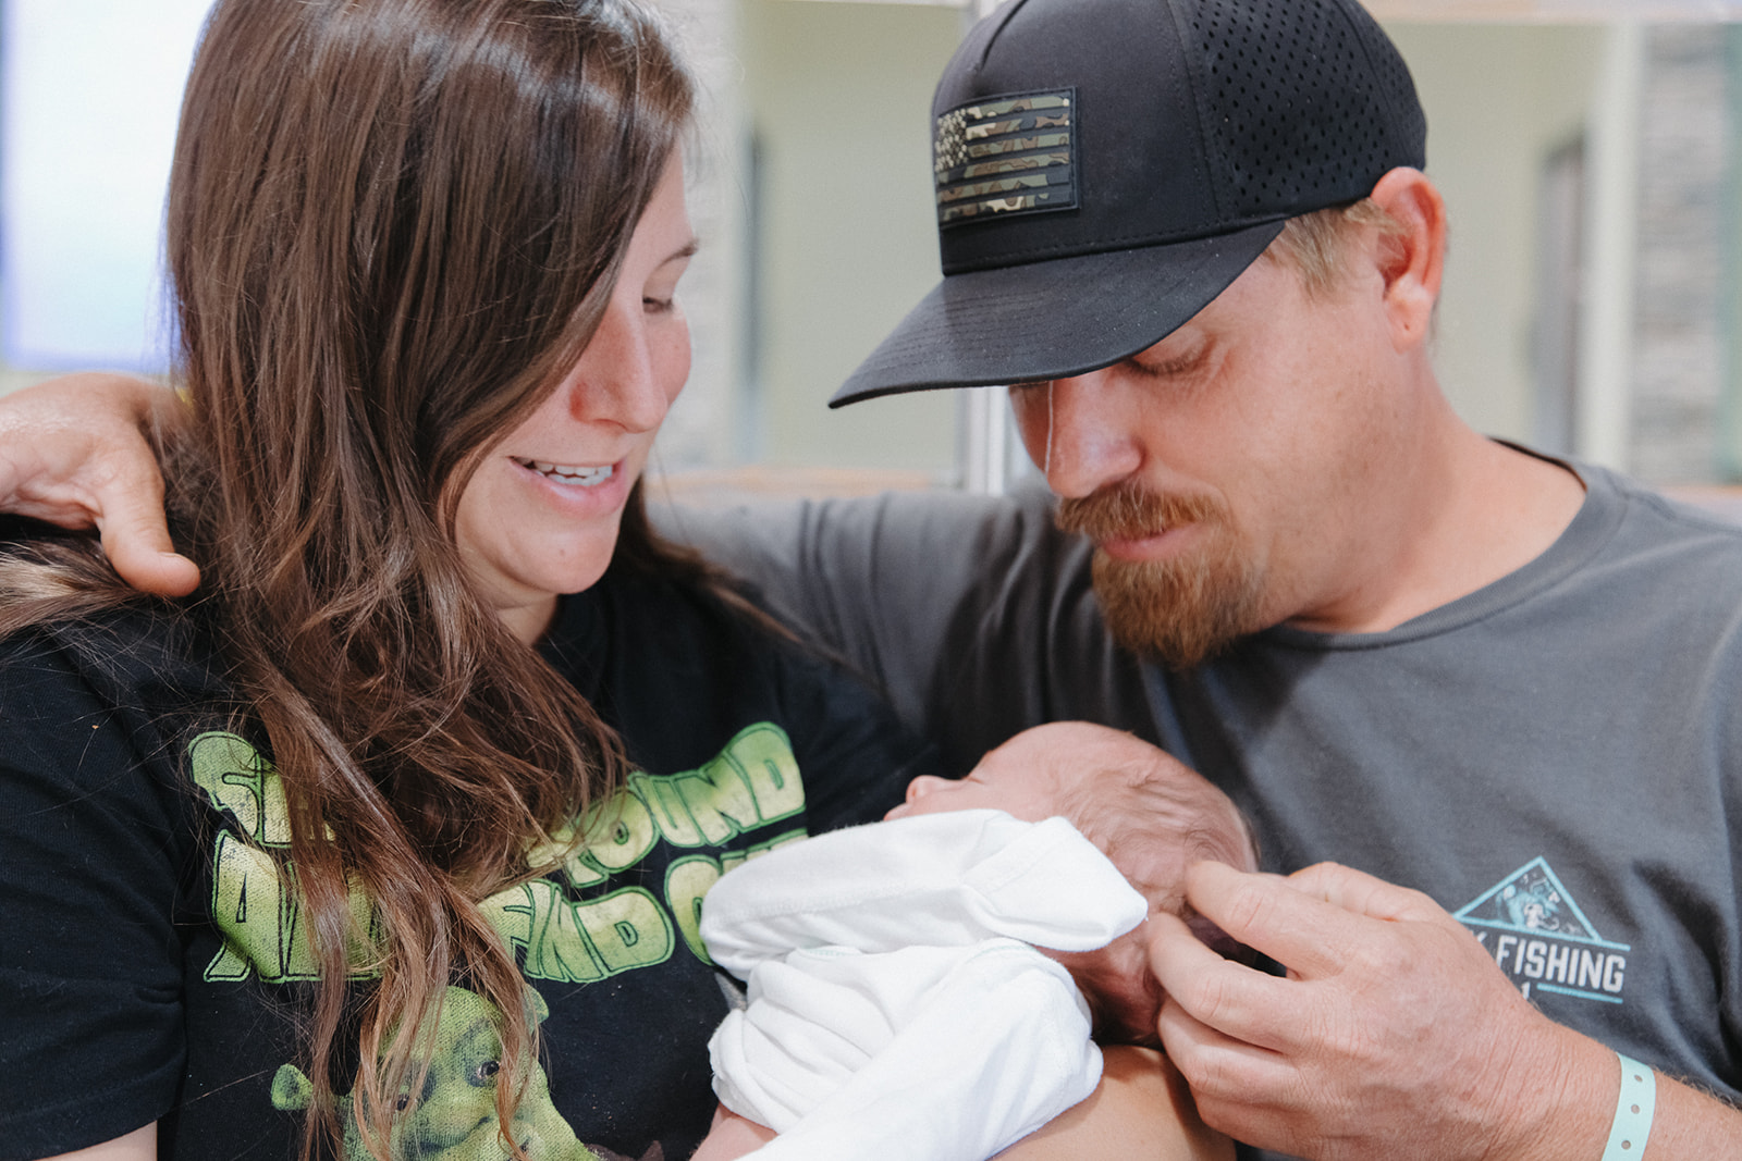
[[[531,1156],[678,1161],[712,1112],[728,1006],[702,895],[758,851],[881,816],[932,761],[862,684],[676,585],[613,569],[563,601],[544,651],[638,773],[577,820],[561,872],[484,905],[544,1041],[510,1131]],[[312,964],[273,870],[284,797],[206,656],[148,611],[0,642],[5,1156],[150,1121],[164,1158],[296,1156]],[[502,1156],[491,1015],[448,990],[394,1156]]]

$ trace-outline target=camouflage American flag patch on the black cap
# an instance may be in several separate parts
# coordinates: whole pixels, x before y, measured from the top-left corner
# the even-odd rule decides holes
[[[1075,89],[1019,92],[937,118],[937,225],[1077,205]]]

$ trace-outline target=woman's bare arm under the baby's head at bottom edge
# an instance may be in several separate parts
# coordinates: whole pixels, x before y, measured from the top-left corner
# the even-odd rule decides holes
[[[1101,1084],[998,1161],[1233,1161],[1233,1142],[1198,1119],[1179,1070],[1153,1048],[1101,1050]]]

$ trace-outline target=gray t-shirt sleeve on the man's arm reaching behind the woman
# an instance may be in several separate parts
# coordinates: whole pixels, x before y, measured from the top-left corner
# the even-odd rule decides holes
[[[951,773],[1047,721],[1157,740],[1139,665],[1094,602],[1089,545],[1054,527],[1043,491],[676,508],[660,526],[866,674]]]

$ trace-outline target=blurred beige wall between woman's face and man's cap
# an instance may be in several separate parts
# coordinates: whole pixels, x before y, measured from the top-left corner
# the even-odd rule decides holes
[[[923,5],[744,0],[746,106],[763,143],[763,458],[935,470],[953,393],[824,400],[937,282],[932,87],[963,31]]]

